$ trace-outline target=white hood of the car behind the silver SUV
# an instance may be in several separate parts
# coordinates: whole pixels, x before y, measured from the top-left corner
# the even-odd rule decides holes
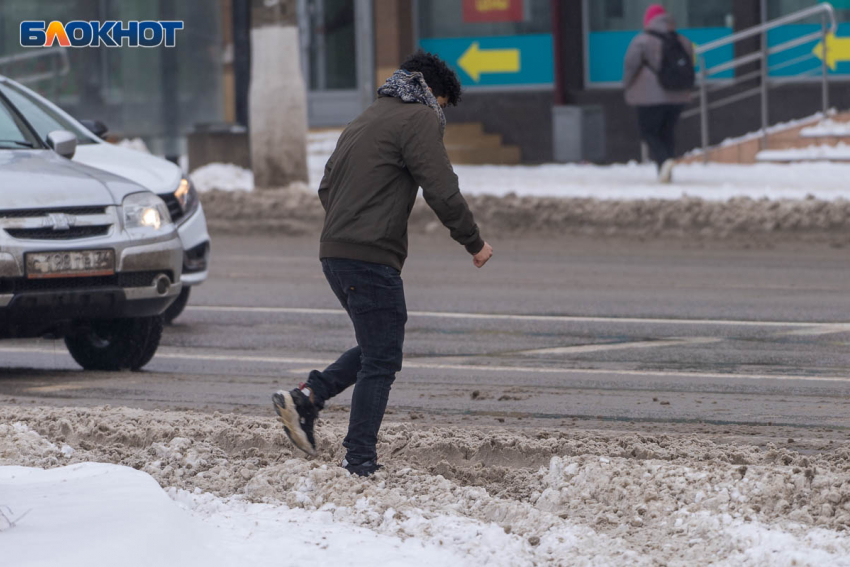
[[[109,143],[77,146],[74,161],[130,179],[154,193],[171,193],[183,171],[168,160]]]

